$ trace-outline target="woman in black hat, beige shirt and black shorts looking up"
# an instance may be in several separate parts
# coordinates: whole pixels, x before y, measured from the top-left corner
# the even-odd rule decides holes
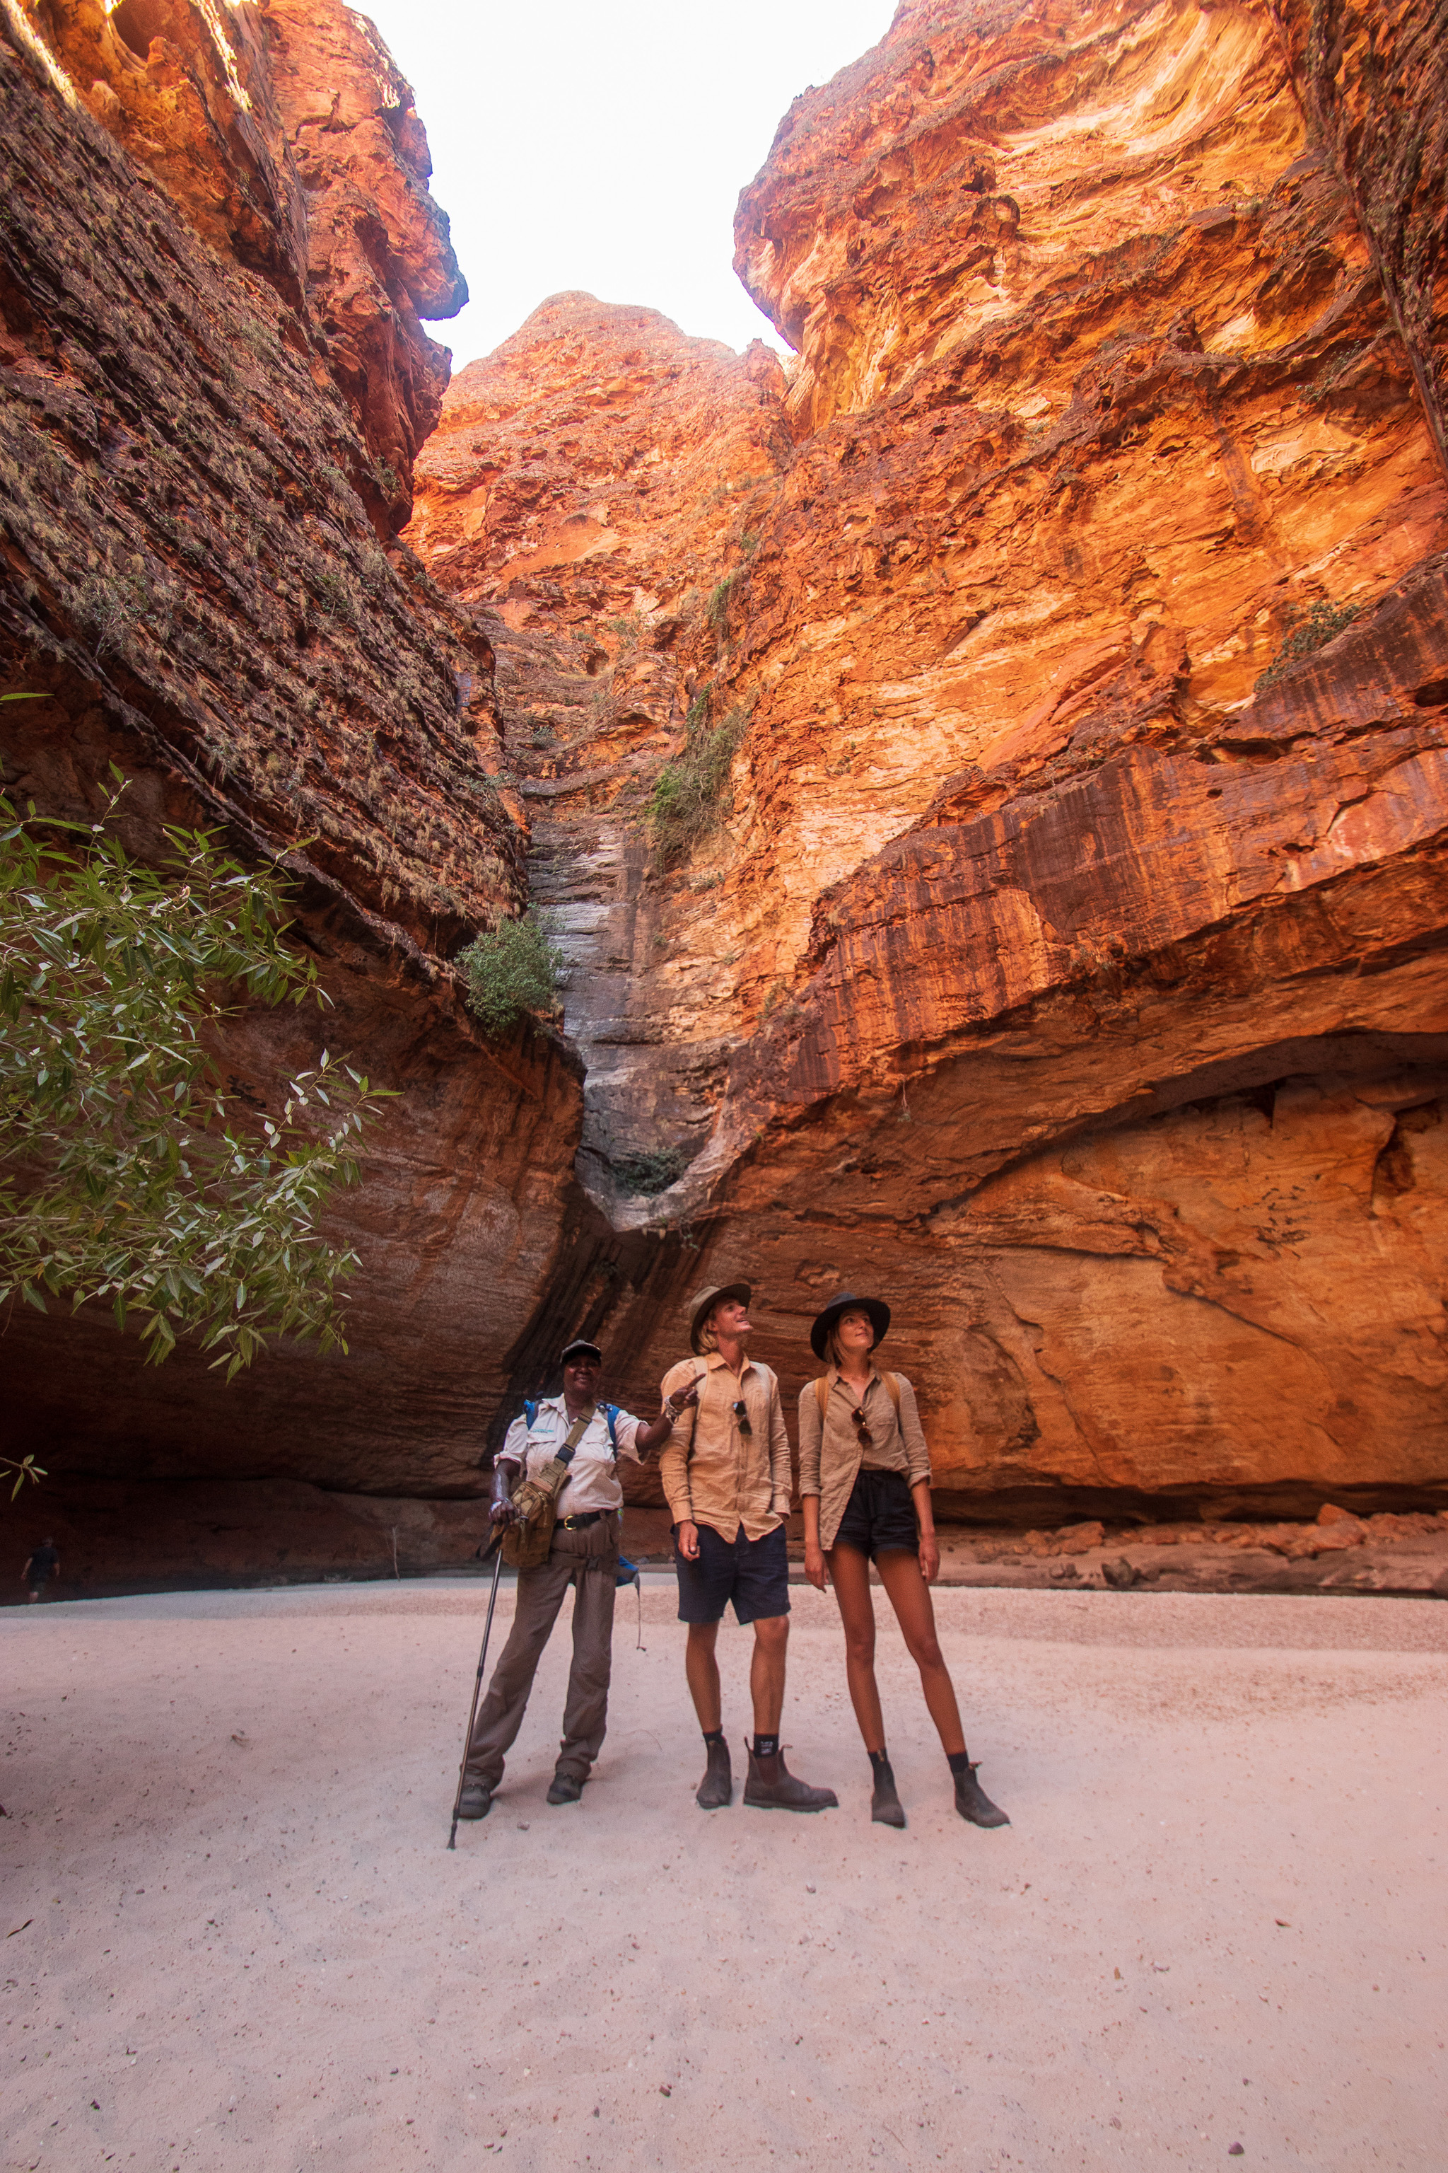
[[[910,1658],[920,1669],[929,1717],[955,1778],[955,1810],[973,1825],[1009,1825],[975,1780],[960,1708],[936,1638],[929,1586],[940,1571],[936,1512],[929,1499],[929,1449],[914,1389],[903,1373],[879,1373],[871,1352],[890,1326],[879,1297],[844,1291],[814,1321],[810,1347],[825,1373],[799,1391],[799,1493],[805,1510],[805,1575],[834,1584],[844,1621],[849,1699],[871,1754],[871,1819],[903,1825],[886,1751],[875,1684],[875,1604],[879,1571]]]

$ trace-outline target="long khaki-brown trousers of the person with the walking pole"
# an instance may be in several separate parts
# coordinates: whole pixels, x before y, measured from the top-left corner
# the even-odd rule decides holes
[[[588,1780],[608,1725],[617,1569],[617,1517],[601,1517],[597,1523],[584,1525],[582,1532],[556,1530],[547,1562],[538,1562],[536,1569],[519,1569],[512,1630],[478,1708],[473,1741],[467,1749],[467,1780],[497,1788],[504,1778],[504,1754],[512,1749],[523,1725],[543,1647],[558,1621],[562,1595],[573,1582],[577,1582],[573,1665],[556,1771]]]

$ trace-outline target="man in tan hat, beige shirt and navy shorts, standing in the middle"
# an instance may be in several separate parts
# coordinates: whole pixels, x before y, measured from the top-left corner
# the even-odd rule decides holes
[[[714,1656],[719,1623],[732,1599],[738,1621],[753,1623],[753,1749],[745,1804],[827,1810],[838,1801],[834,1791],[795,1780],[779,1751],[790,1634],[784,1519],[792,1473],[779,1382],[745,1352],[749,1295],[747,1282],[703,1291],[693,1302],[688,1328],[690,1349],[703,1365],[684,1358],[664,1376],[664,1415],[679,1423],[658,1471],[673,1512],[679,1621],[688,1623],[688,1693],[706,1745],[695,1801],[701,1810],[721,1810],[734,1795]],[[684,1423],[684,1404],[695,1395],[697,1410]]]

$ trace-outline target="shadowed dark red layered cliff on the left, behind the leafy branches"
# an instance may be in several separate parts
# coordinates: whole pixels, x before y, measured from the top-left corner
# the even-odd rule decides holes
[[[417,313],[460,296],[410,93],[330,0],[126,0],[0,15],[0,687],[48,695],[0,708],[4,789],[93,819],[115,761],[132,850],[208,821],[280,863],[330,1008],[239,1015],[232,1089],[276,1106],[330,1047],[397,1091],[334,1213],[350,1360],[224,1389],[28,1312],[11,1436],[69,1473],[475,1491],[580,1078],[486,1045],[447,969],[525,895],[525,821],[486,637],[391,543],[445,376]]]

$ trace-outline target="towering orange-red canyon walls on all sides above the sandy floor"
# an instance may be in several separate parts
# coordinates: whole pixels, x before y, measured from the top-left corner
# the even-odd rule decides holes
[[[558,293],[449,382],[363,15],[0,0],[4,791],[287,871],[332,1008],[224,1073],[395,1091],[350,1356],[7,1319],[98,1580],[460,1560],[732,1278],[790,1408],[890,1302],[942,1519],[1448,1508],[1431,13],[903,0],[738,202],[788,361]]]

